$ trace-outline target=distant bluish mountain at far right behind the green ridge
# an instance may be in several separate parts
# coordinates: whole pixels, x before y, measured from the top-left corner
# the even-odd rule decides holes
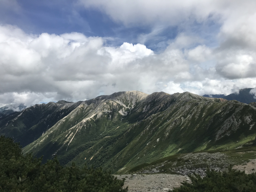
[[[224,94],[221,94],[221,95],[203,95],[203,97],[223,98],[229,101],[237,100],[239,102],[249,104],[251,102],[256,102],[255,95],[250,93],[252,89],[253,88],[240,89],[239,93],[231,93],[230,95],[227,95],[227,96],[225,96]]]

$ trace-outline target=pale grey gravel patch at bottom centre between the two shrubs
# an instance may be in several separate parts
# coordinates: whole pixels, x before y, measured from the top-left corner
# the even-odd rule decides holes
[[[125,178],[124,188],[132,192],[164,192],[179,187],[181,182],[190,182],[189,177],[175,174],[132,174],[114,175],[118,179]]]

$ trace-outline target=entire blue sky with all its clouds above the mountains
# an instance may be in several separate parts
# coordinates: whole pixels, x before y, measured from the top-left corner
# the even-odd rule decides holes
[[[255,0],[0,0],[0,107],[248,87]]]

